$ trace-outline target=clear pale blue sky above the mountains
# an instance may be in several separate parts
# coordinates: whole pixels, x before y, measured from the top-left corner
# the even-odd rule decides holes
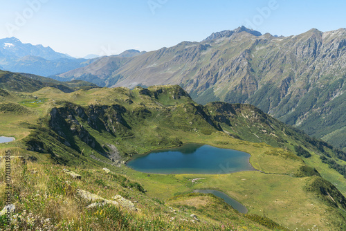
[[[342,0],[0,0],[0,4],[0,38],[14,36],[74,57],[130,48],[156,50],[242,25],[273,35],[346,27]]]

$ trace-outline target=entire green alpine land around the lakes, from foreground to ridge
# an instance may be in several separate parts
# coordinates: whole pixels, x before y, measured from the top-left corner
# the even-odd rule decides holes
[[[8,75],[14,82],[27,78]],[[39,81],[30,80],[32,85],[25,89]],[[75,87],[71,92],[44,85],[31,92],[1,90],[1,136],[16,140],[0,144],[0,149],[27,159],[25,165],[12,163],[12,193],[17,195],[13,202],[21,216],[28,216],[24,210],[35,212],[35,222],[53,216],[54,227],[70,230],[345,228],[346,180],[329,167],[332,161],[345,166],[345,154],[326,142],[248,104],[197,104],[177,85],[132,90]],[[123,164],[134,155],[188,143],[244,151],[258,171],[229,174],[223,172],[230,167],[224,163],[219,174],[163,175],[137,172]],[[66,168],[81,179],[64,174]],[[196,178],[200,180],[192,183]],[[109,205],[89,210],[90,203],[80,201],[78,190],[108,200],[120,194],[137,201],[140,210],[128,213],[122,207],[114,212]],[[239,214],[221,199],[192,194],[193,190],[224,192],[248,213]],[[45,192],[50,196],[45,198]],[[53,214],[53,205],[60,212]],[[116,223],[104,223],[114,214]],[[199,221],[190,221],[190,214]],[[20,222],[28,225],[25,219]]]

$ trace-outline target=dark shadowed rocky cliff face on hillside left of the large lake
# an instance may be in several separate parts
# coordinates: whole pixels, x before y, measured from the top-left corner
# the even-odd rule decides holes
[[[102,156],[109,158],[110,165],[120,165],[121,157],[116,146],[100,145],[91,134],[84,129],[81,122],[87,123],[96,131],[105,130],[111,135],[116,136],[123,131],[129,133],[131,127],[122,118],[126,109],[118,104],[111,106],[89,105],[89,107],[80,107],[72,103],[64,103],[63,107],[55,107],[51,110],[51,120],[49,126],[60,136],[60,142],[69,147],[75,147],[71,136],[77,136],[82,142],[89,145]],[[81,122],[80,122],[81,121]],[[33,146],[37,143],[33,144]],[[95,160],[100,160],[91,156]],[[100,160],[101,161],[101,160]]]

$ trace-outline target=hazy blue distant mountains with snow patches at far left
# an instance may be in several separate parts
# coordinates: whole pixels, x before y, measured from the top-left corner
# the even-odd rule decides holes
[[[126,50],[120,57],[142,54],[138,50]],[[0,39],[0,69],[34,75],[57,75],[92,64],[100,57],[87,55],[75,59],[70,55],[57,53],[42,45],[23,44],[15,37]]]

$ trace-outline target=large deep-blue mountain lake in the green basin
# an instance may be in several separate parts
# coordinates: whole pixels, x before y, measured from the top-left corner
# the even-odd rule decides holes
[[[229,174],[255,170],[249,158],[244,151],[187,144],[136,155],[127,166],[152,174]]]

